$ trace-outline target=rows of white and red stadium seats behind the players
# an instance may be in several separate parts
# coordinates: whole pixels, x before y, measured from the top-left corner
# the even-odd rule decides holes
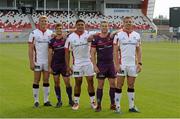
[[[75,21],[80,18],[86,21],[86,26],[89,29],[99,29],[100,22],[103,20],[109,21],[109,26],[111,29],[120,29],[122,28],[122,22],[125,15],[119,16],[105,16],[100,12],[87,12],[87,11],[80,11],[77,14],[75,12],[69,12],[69,28],[74,28]],[[36,11],[32,14],[33,21],[36,26],[38,26],[38,18],[40,15],[43,15],[43,11]],[[53,29],[55,23],[62,23],[64,28],[68,28],[68,12],[67,11],[47,11],[46,13],[49,19],[49,28]],[[78,16],[78,18],[76,17]],[[153,29],[151,24],[148,20],[145,19],[141,14],[137,13],[136,16],[132,16],[135,21],[135,29],[137,30],[149,30]],[[0,11],[0,25],[1,28],[6,30],[16,29],[16,30],[23,30],[23,29],[31,29],[30,20],[28,19],[27,15],[22,14],[18,11]]]

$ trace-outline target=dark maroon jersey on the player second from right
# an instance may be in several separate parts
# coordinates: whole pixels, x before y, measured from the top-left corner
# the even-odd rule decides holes
[[[113,63],[113,39],[110,38],[110,33],[104,38],[100,34],[95,35],[91,47],[96,48],[97,64]]]

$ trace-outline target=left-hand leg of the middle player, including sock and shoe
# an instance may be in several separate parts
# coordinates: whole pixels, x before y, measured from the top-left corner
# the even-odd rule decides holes
[[[81,94],[81,84],[82,77],[75,77],[75,86],[74,86],[74,105],[72,107],[73,110],[79,109],[79,99]]]

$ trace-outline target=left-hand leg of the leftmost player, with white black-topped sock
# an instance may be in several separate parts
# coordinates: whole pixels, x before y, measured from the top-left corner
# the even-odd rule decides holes
[[[41,71],[34,71],[33,97],[34,107],[39,107],[39,82],[41,79]]]

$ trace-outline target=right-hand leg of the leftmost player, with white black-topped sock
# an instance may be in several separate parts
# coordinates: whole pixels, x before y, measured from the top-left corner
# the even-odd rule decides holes
[[[44,106],[52,106],[49,101],[49,72],[43,71],[43,88],[44,88]]]

